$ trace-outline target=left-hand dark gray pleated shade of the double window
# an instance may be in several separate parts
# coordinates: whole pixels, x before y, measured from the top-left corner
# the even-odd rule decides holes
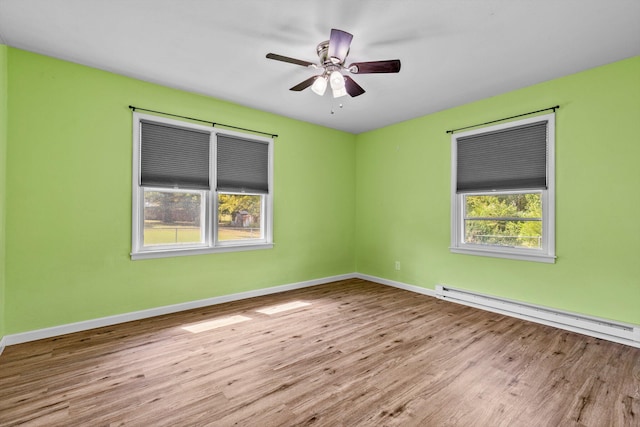
[[[140,185],[209,188],[209,133],[141,121]]]

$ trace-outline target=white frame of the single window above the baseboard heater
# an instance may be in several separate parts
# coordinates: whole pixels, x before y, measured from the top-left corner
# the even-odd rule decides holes
[[[547,122],[547,189],[516,189],[510,191],[478,191],[457,193],[457,140],[466,136],[495,132],[538,122]],[[522,248],[498,245],[478,245],[464,241],[465,195],[502,195],[517,193],[542,193],[542,247]],[[457,254],[480,255],[523,261],[555,263],[555,114],[545,114],[528,119],[474,129],[451,135],[451,246]]]

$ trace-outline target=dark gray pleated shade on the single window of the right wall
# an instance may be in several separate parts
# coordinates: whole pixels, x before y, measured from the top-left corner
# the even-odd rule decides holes
[[[547,122],[457,140],[458,193],[547,188]]]

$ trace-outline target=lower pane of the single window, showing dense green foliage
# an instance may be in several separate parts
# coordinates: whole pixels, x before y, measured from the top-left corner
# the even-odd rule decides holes
[[[542,194],[465,196],[464,242],[542,248]]]

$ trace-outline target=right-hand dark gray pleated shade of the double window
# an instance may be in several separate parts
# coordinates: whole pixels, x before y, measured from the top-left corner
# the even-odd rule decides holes
[[[218,191],[268,193],[269,144],[218,134]]]

